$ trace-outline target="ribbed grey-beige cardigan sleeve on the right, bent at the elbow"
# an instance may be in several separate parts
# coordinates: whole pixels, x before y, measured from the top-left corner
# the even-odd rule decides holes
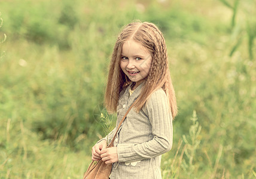
[[[118,144],[119,162],[133,162],[154,158],[172,148],[172,114],[167,96],[160,89],[154,92],[146,104],[148,119],[152,126],[153,139],[141,144]]]

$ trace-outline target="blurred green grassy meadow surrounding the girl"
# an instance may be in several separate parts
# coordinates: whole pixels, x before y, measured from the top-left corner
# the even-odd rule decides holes
[[[178,101],[163,178],[255,178],[255,8],[255,0],[0,1],[0,178],[83,177],[105,135],[112,48],[135,19],[164,33]]]

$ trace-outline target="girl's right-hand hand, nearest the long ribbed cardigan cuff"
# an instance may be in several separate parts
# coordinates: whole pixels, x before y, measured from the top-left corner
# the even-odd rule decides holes
[[[118,162],[117,147],[110,147],[100,151],[100,157],[106,164]]]

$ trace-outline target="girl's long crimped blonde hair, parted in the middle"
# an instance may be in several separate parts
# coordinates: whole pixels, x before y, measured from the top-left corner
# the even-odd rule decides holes
[[[145,78],[141,94],[135,101],[136,111],[141,110],[150,95],[159,88],[163,88],[169,101],[172,118],[177,115],[175,92],[170,79],[167,48],[163,34],[153,23],[134,21],[127,24],[118,35],[109,66],[108,81],[105,92],[105,106],[109,112],[116,112],[120,92],[131,83],[120,67],[121,51],[125,41],[133,39],[143,45],[151,53],[152,62],[150,72]]]

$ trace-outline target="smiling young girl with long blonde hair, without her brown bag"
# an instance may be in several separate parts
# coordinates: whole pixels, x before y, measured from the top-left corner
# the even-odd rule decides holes
[[[92,160],[112,163],[110,178],[161,178],[161,155],[172,147],[172,119],[177,114],[166,43],[153,23],[133,22],[115,43],[105,105],[117,112],[117,125],[130,110],[106,149],[106,137],[92,148]],[[109,133],[109,141],[117,129]],[[108,141],[108,142],[109,142]]]

